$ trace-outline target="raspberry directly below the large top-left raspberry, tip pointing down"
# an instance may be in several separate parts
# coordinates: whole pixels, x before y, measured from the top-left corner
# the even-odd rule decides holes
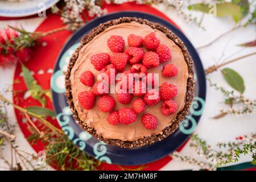
[[[126,53],[113,53],[110,56],[110,62],[118,71],[123,71],[128,60],[129,55],[127,55]]]

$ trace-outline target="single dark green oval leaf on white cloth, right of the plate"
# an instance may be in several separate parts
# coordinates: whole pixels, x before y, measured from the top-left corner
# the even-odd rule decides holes
[[[222,69],[221,72],[226,82],[228,82],[228,84],[232,86],[232,88],[236,89],[241,94],[245,92],[245,85],[243,84],[243,78],[236,71],[230,68],[225,68],[225,69]]]

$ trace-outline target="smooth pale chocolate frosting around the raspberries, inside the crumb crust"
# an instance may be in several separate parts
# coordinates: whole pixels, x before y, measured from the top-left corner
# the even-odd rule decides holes
[[[177,103],[176,113],[169,116],[163,115],[161,112],[162,101],[160,101],[155,106],[146,106],[146,111],[144,111],[144,113],[154,114],[158,118],[159,122],[159,125],[158,127],[156,127],[155,130],[147,130],[144,128],[141,122],[141,117],[143,113],[137,114],[137,121],[135,121],[131,125],[113,126],[110,125],[108,121],[106,121],[109,113],[104,113],[100,111],[97,105],[94,105],[93,109],[91,110],[83,109],[80,106],[79,101],[77,100],[77,95],[80,92],[84,90],[90,90],[91,88],[83,85],[80,82],[79,77],[84,71],[91,71],[94,74],[95,78],[97,78],[98,74],[100,73],[99,71],[96,71],[96,69],[94,69],[93,65],[90,63],[89,57],[100,52],[108,52],[111,54],[112,52],[107,46],[107,39],[111,35],[123,36],[123,38],[126,40],[125,48],[127,48],[127,37],[130,34],[140,35],[144,37],[150,32],[155,32],[161,43],[166,44],[170,48],[172,53],[172,59],[170,61],[160,64],[159,67],[148,69],[148,72],[159,73],[159,85],[161,85],[162,82],[168,81],[177,86],[178,94],[174,98]],[[165,64],[168,63],[175,64],[178,68],[179,73],[175,77],[170,78],[162,76],[162,68]],[[85,44],[85,46],[80,49],[79,57],[77,57],[76,63],[71,71],[70,80],[73,103],[82,122],[85,122],[89,127],[92,127],[99,135],[102,135],[102,137],[104,138],[134,141],[139,138],[150,136],[151,134],[160,134],[164,128],[172,125],[177,113],[183,110],[187,92],[188,66],[184,60],[183,52],[181,51],[181,49],[174,42],[172,42],[171,39],[168,39],[167,36],[163,34],[163,32],[152,29],[146,24],[140,24],[137,22],[121,23],[106,28],[103,32],[95,36],[89,43]],[[113,96],[116,101],[115,110],[127,106],[131,107],[131,104],[120,104],[117,101],[115,94],[110,95]],[[133,100],[135,98],[137,97],[134,97]]]

